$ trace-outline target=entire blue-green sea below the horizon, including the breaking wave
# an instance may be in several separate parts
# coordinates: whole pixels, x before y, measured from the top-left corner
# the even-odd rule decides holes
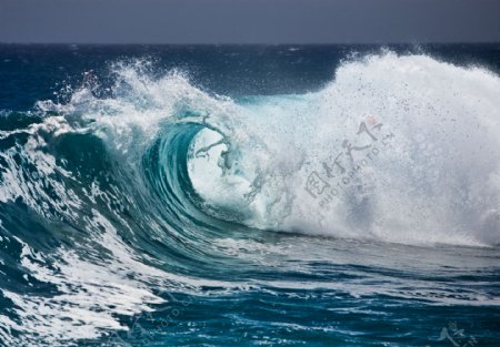
[[[0,45],[0,346],[500,346],[500,44]]]

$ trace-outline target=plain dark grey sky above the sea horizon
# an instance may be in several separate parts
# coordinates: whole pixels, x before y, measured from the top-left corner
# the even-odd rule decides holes
[[[500,42],[500,0],[0,0],[0,42]]]

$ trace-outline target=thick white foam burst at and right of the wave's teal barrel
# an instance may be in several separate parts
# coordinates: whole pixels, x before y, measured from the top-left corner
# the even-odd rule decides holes
[[[427,55],[347,62],[319,92],[242,104],[230,132],[238,149],[233,170],[213,173],[227,150],[220,144],[191,162],[191,177],[212,204],[233,205],[256,227],[409,244],[498,244],[499,92],[491,72]],[[371,133],[392,135],[389,144],[357,135],[361,122],[382,124]],[[207,146],[207,132],[200,136]],[[344,140],[371,147],[353,151],[352,164]],[[378,155],[343,184],[374,146]],[[342,152],[343,175],[334,165]],[[313,173],[330,185],[316,198],[307,191]],[[320,207],[339,183],[338,195]]]

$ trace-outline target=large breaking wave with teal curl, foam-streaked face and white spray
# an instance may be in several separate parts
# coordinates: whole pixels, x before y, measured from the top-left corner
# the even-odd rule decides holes
[[[176,71],[154,76],[143,62],[117,63],[112,75],[102,95],[87,83],[63,104],[3,111],[7,344],[124,329],[119,316],[152,310],[166,288],[289,287],[249,275],[256,254],[273,267],[303,252],[293,238],[262,243],[274,232],[500,243],[500,78],[484,69],[387,52],[342,63],[316,92],[240,100]],[[377,290],[417,296],[394,287]]]

